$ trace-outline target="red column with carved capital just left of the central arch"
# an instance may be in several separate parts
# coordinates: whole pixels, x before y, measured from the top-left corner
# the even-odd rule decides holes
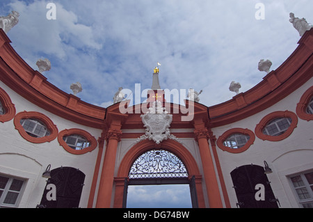
[[[122,131],[120,127],[112,127],[107,134],[108,145],[106,154],[104,155],[104,163],[102,166],[101,180],[97,196],[97,208],[111,207],[111,196],[114,182],[114,168],[116,159],[116,150]]]

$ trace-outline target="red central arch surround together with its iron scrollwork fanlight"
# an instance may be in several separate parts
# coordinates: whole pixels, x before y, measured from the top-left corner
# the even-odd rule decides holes
[[[133,164],[140,158],[141,161],[147,160],[142,156],[147,154],[154,155],[154,158],[161,158],[160,154],[168,155],[169,158],[172,158],[171,164],[175,165],[175,167],[170,170],[167,168],[166,172],[159,171],[159,173],[157,173],[155,168],[151,172],[144,172],[142,171],[143,168],[141,168],[140,174],[135,176],[134,171],[131,174]],[[159,164],[164,164],[162,161],[164,159],[159,159]],[[156,145],[153,141],[145,140],[134,145],[125,154],[118,170],[118,177],[115,177],[114,207],[126,207],[127,187],[129,184],[189,184],[193,207],[205,207],[202,192],[202,176],[200,175],[198,165],[191,153],[177,141],[167,140],[163,141],[161,145]]]

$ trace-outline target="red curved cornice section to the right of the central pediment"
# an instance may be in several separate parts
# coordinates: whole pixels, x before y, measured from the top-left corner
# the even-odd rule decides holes
[[[313,77],[313,29],[298,42],[297,49],[257,86],[227,102],[209,107],[207,127],[227,125],[267,109],[287,97]]]

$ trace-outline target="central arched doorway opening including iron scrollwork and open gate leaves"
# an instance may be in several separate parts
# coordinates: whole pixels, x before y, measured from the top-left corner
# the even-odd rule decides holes
[[[172,152],[149,150],[134,161],[125,179],[123,207],[197,208],[195,177]]]

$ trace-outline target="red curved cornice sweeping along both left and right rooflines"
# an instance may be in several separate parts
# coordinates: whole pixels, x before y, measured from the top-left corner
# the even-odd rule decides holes
[[[259,113],[293,93],[313,77],[313,29],[307,31],[298,44],[291,56],[278,69],[268,73],[255,87],[215,106],[207,107],[195,102],[193,114],[201,116],[208,128],[218,127]],[[123,119],[122,128],[143,127],[138,124],[141,119],[138,118],[140,115],[137,113],[121,115],[117,113],[117,106],[113,106],[108,114],[107,109],[83,102],[78,97],[67,94],[50,84],[47,78],[31,69],[16,53],[2,30],[0,30],[0,72],[0,80],[4,84],[26,100],[61,118],[101,129],[104,122],[111,124],[110,121],[118,117]],[[189,105],[186,100],[186,107]],[[129,107],[129,109],[133,108]],[[180,106],[179,109],[183,110],[184,107]],[[184,114],[178,113],[174,116],[176,118]],[[192,121],[182,122],[175,118],[171,127],[189,128],[192,125]]]

